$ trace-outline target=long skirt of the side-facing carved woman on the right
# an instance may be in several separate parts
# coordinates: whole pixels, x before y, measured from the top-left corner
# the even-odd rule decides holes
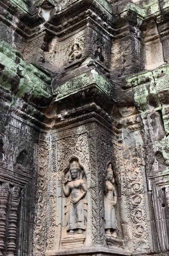
[[[104,200],[105,207],[105,229],[117,229],[115,207],[108,198]]]

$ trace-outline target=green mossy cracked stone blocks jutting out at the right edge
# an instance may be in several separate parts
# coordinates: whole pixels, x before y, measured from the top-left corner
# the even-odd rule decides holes
[[[169,64],[155,70],[128,76],[128,86],[133,87],[137,110],[144,118],[152,111],[160,111],[166,135],[169,134]]]

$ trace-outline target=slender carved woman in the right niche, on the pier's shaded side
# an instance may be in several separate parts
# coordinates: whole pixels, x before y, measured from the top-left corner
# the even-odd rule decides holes
[[[113,176],[112,165],[107,168],[107,179],[104,186],[104,209],[105,209],[105,233],[108,237],[117,237],[117,225],[115,215],[115,205],[117,203],[117,194],[113,186],[115,179]]]

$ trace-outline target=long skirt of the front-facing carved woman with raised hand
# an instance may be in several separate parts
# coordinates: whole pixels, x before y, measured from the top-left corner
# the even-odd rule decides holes
[[[84,221],[85,221],[85,213],[84,210],[86,210],[85,208],[87,206],[86,205],[86,200],[82,199],[79,202],[77,202],[77,204],[73,204],[70,201],[70,205],[69,205],[69,224],[68,227],[66,228],[66,230],[74,230],[74,229],[82,229],[82,230],[86,230],[86,227],[84,225]]]

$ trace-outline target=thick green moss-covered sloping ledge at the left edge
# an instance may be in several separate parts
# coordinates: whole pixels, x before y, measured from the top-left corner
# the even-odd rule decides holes
[[[22,55],[0,41],[0,86],[38,107],[52,100],[52,74],[41,67],[26,64]]]

